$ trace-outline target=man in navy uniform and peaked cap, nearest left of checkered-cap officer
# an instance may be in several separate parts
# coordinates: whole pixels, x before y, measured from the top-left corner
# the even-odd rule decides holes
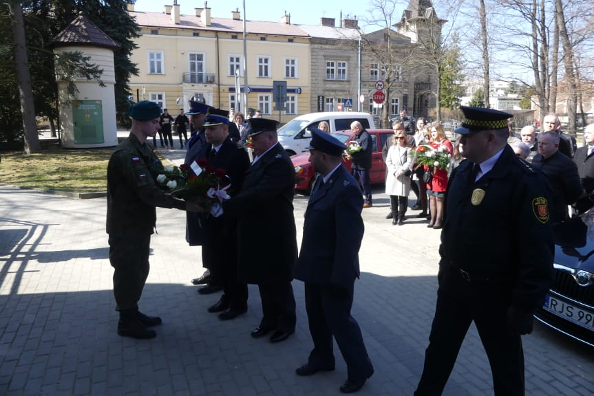
[[[328,133],[312,129],[308,149],[310,162],[320,175],[305,213],[295,278],[305,282],[314,349],[297,374],[334,370],[334,336],[348,371],[340,391],[354,393],[373,374],[361,329],[350,315],[354,280],[359,278],[363,199],[357,181],[342,166],[344,144]]]

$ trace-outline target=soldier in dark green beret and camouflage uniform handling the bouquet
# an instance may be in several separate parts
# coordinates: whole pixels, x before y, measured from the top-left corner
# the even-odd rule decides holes
[[[125,337],[153,338],[155,331],[147,327],[161,323],[161,318],[138,311],[149,276],[155,207],[200,209],[195,203],[165,195],[155,183],[163,166],[146,142],[159,129],[160,112],[155,102],[134,104],[130,135],[118,145],[107,165],[109,262],[114,267],[114,296],[120,312],[118,334]]]

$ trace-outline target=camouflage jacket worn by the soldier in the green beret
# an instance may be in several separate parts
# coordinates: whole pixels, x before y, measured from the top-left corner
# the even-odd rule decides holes
[[[150,235],[156,206],[184,210],[186,203],[166,195],[155,179],[163,165],[153,150],[136,135],[121,142],[107,164],[107,234]]]

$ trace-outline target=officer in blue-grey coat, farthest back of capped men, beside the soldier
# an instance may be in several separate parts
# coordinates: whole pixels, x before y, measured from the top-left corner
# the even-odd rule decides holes
[[[191,136],[186,143],[187,151],[184,159],[184,164],[186,165],[191,164],[196,159],[206,158],[208,144],[206,144],[206,135],[204,135],[204,117],[209,109],[214,109],[214,107],[190,100],[190,111],[186,115],[189,116],[190,120]],[[202,219],[204,219],[204,214],[202,213],[187,213],[186,215],[186,241],[190,246],[200,246],[204,241]],[[206,286],[198,289],[200,294],[218,292],[222,287],[209,284],[210,271],[208,267],[205,268],[206,271],[202,276],[192,279],[193,285],[206,284]]]

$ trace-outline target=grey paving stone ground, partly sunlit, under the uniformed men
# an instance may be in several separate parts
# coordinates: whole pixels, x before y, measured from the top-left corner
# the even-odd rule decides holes
[[[167,156],[176,162],[183,153]],[[295,197],[299,241],[306,203]],[[0,186],[0,395],[339,394],[346,366],[337,348],[334,372],[295,374],[312,348],[301,282],[293,282],[297,331],[279,344],[249,335],[261,316],[255,286],[244,316],[221,322],[206,312],[219,295],[200,296],[189,283],[202,274],[200,248],[184,241],[178,210],[158,208],[140,300],[147,314],[162,316],[158,336],[117,336],[105,206],[105,198]],[[438,231],[415,211],[392,226],[387,212],[388,197],[374,190],[352,309],[375,368],[360,395],[412,395],[434,314]],[[524,353],[527,395],[593,395],[592,349],[537,323]],[[474,327],[444,395],[493,395]]]

